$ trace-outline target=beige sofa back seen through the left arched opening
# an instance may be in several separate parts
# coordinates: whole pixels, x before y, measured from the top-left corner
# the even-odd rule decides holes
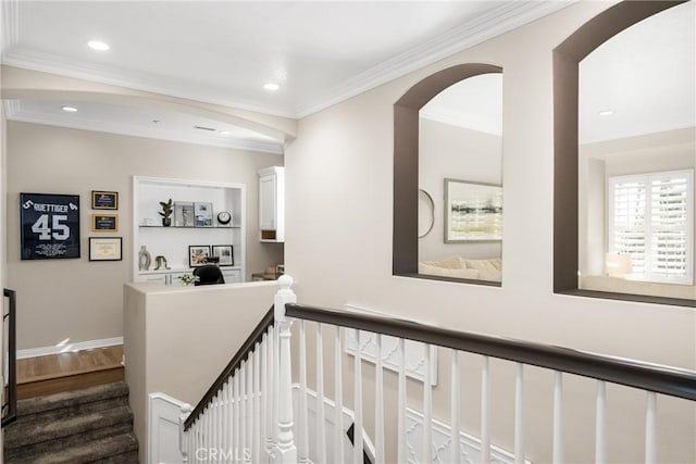
[[[421,261],[418,264],[419,274],[472,280],[500,281],[501,271],[500,258],[471,260],[456,255],[443,260]]]

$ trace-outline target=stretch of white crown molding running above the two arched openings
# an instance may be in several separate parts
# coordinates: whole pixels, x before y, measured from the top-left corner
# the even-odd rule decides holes
[[[318,99],[313,104],[299,109],[295,117],[301,118],[324,110],[485,40],[562,10],[577,1],[580,0],[505,3],[474,21],[450,29],[345,80],[335,87],[331,93]]]

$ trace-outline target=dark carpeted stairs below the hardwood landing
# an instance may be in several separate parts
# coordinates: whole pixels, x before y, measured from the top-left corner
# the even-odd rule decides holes
[[[4,430],[5,464],[138,462],[128,387],[123,381],[17,402]]]

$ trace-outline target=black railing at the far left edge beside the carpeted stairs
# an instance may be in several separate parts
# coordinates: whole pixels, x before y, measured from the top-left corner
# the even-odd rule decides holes
[[[0,340],[2,340],[2,376],[7,378],[7,384],[3,386],[7,392],[7,401],[2,403],[2,427],[12,424],[17,418],[16,291],[3,289],[3,298],[8,299],[8,312],[4,313],[3,310],[2,330],[4,333],[4,322],[7,321],[8,331],[5,337],[0,337]]]

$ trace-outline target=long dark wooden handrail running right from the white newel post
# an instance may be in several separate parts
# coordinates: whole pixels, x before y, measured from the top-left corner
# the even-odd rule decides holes
[[[288,303],[288,317],[389,335],[696,401],[696,372],[530,341]]]

